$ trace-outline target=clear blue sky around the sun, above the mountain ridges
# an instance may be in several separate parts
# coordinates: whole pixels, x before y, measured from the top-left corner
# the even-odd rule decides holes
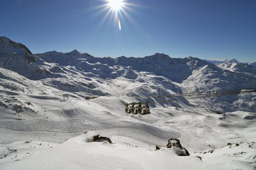
[[[0,36],[33,53],[256,61],[256,0],[125,0],[118,19],[100,0],[0,0]],[[129,3],[129,4],[128,4]]]

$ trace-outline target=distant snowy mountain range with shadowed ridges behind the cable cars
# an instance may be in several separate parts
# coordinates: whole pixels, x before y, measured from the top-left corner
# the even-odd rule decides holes
[[[0,37],[0,59],[0,89],[30,94],[52,95],[65,91],[76,98],[138,97],[254,88],[256,84],[255,63],[239,63],[236,59],[217,62],[193,57],[171,58],[160,53],[143,58],[97,58],[77,50],[32,54],[25,45],[7,37]],[[253,94],[194,101],[224,112],[256,112]],[[169,104],[181,107],[192,103]]]

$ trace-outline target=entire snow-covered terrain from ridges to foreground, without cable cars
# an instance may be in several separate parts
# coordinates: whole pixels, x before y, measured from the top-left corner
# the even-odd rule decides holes
[[[124,112],[173,99],[147,98],[159,94],[255,88],[255,68],[158,53],[34,55],[0,37],[0,169],[255,169],[255,93],[149,104],[148,118]],[[97,134],[113,144],[91,142]],[[156,150],[170,138],[190,156]]]

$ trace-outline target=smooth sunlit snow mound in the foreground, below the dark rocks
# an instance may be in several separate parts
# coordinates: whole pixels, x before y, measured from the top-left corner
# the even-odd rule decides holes
[[[203,162],[195,156],[179,157],[172,150],[156,151],[153,147],[123,136],[108,142],[91,142],[96,131],[74,137],[36,154],[27,160],[16,161],[5,169],[234,169],[250,168],[249,162],[232,160],[227,165]],[[14,144],[13,144],[14,145]],[[27,144],[26,144],[27,145]],[[31,144],[30,144],[31,145]],[[52,155],[58,155],[52,157]],[[16,159],[17,160],[17,159]],[[68,161],[67,161],[68,160]],[[250,161],[255,159],[251,158]],[[72,162],[72,164],[71,164]],[[235,163],[235,164],[234,164]],[[248,165],[249,164],[249,165]],[[251,163],[255,165],[253,162]]]

